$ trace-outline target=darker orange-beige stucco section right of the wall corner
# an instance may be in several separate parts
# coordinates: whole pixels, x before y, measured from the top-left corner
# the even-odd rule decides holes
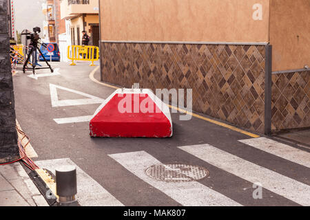
[[[310,1],[271,0],[273,71],[310,66]]]

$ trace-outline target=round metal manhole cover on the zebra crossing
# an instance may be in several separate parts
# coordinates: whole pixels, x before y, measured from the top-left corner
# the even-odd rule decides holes
[[[209,175],[206,168],[187,164],[159,164],[145,170],[145,173],[160,181],[195,181]]]

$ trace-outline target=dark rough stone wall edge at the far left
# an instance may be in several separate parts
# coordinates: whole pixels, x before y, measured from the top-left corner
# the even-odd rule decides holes
[[[8,0],[0,0],[0,163],[19,158],[7,13]]]

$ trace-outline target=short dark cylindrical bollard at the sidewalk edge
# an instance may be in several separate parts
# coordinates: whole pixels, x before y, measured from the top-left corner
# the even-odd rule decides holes
[[[56,169],[56,193],[59,206],[78,206],[76,201],[76,168],[62,166]]]

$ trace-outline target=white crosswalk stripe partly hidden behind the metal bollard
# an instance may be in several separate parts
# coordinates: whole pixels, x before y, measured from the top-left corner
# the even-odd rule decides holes
[[[71,159],[51,159],[37,161],[40,168],[47,168],[55,174],[56,168],[71,165],[76,166],[77,179],[77,200],[81,206],[123,206],[123,204],[113,197],[92,177],[87,175],[79,166],[74,164]]]

